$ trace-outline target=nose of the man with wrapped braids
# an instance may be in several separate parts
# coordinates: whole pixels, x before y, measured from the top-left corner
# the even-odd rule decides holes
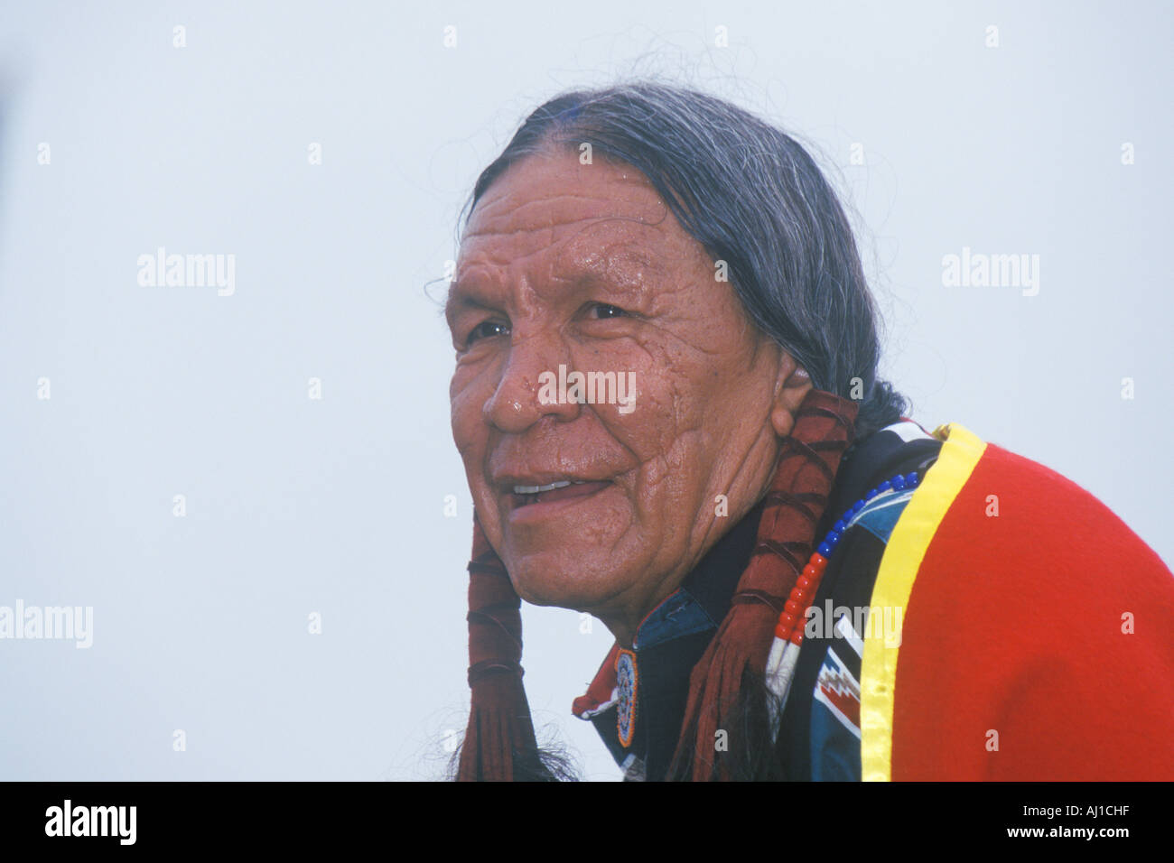
[[[533,333],[515,337],[501,366],[497,389],[485,403],[486,422],[506,433],[519,434],[542,417],[569,422],[579,405],[560,389],[559,366],[571,372],[567,351],[556,336]]]

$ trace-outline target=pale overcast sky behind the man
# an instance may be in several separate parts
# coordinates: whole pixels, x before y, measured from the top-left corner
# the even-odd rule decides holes
[[[89,649],[0,641],[0,778],[440,775],[472,513],[433,279],[525,114],[621,75],[810,143],[913,417],[1174,560],[1169,5],[636,7],[0,2],[0,605],[94,608]],[[235,294],[141,286],[158,247],[234,254]],[[1039,294],[943,286],[964,247],[1039,255]],[[569,714],[607,631],[524,619],[535,721],[616,778]]]

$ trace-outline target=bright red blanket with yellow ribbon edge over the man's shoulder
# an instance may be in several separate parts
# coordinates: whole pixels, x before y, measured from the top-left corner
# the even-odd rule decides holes
[[[1054,471],[933,434],[872,594],[902,623],[865,639],[863,777],[1174,780],[1169,568]]]

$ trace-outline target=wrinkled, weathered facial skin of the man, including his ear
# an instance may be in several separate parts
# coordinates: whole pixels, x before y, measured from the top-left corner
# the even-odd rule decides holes
[[[598,156],[532,155],[488,188],[446,316],[453,438],[514,588],[589,612],[630,645],[767,493],[810,378],[749,322],[648,180]],[[634,409],[542,404],[539,375],[560,364],[634,372]],[[514,485],[560,479],[606,484],[513,522]]]

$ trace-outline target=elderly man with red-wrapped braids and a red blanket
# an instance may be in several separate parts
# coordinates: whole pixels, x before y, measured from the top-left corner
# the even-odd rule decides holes
[[[559,775],[520,599],[615,635],[574,712],[627,778],[1174,778],[1169,571],[903,416],[848,222],[776,128],[660,85],[552,100],[477,182],[446,315],[460,778]]]

